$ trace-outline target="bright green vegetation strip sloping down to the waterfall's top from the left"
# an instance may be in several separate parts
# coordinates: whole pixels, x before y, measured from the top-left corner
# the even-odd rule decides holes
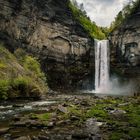
[[[80,24],[84,27],[84,29],[88,32],[88,34],[92,38],[96,39],[105,39],[106,36],[102,32],[101,28],[98,27],[94,22],[92,22],[86,14],[84,14],[78,7],[76,7],[72,2],[69,1],[68,6],[73,13],[75,19],[80,22]]]

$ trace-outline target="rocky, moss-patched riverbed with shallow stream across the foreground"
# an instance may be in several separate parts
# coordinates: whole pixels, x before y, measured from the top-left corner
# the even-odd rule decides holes
[[[102,139],[140,139],[140,97],[53,94],[0,105],[0,140]]]

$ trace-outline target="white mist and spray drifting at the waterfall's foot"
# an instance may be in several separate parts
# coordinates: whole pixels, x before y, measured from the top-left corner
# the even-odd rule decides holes
[[[98,90],[86,90],[84,93],[94,93],[97,95],[122,95],[131,96],[137,93],[136,85],[133,80],[119,78],[116,75],[111,76],[107,87],[101,87]]]

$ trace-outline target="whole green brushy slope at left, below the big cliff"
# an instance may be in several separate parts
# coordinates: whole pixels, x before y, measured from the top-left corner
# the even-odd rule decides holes
[[[47,92],[46,78],[39,62],[22,49],[12,54],[0,44],[0,77],[0,100],[40,98]]]

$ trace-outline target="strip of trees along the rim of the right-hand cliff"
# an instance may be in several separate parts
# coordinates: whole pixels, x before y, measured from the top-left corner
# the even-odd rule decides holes
[[[127,4],[122,11],[118,13],[115,20],[110,25],[110,32],[119,28],[129,17],[136,14],[140,9],[140,0],[135,0]]]

